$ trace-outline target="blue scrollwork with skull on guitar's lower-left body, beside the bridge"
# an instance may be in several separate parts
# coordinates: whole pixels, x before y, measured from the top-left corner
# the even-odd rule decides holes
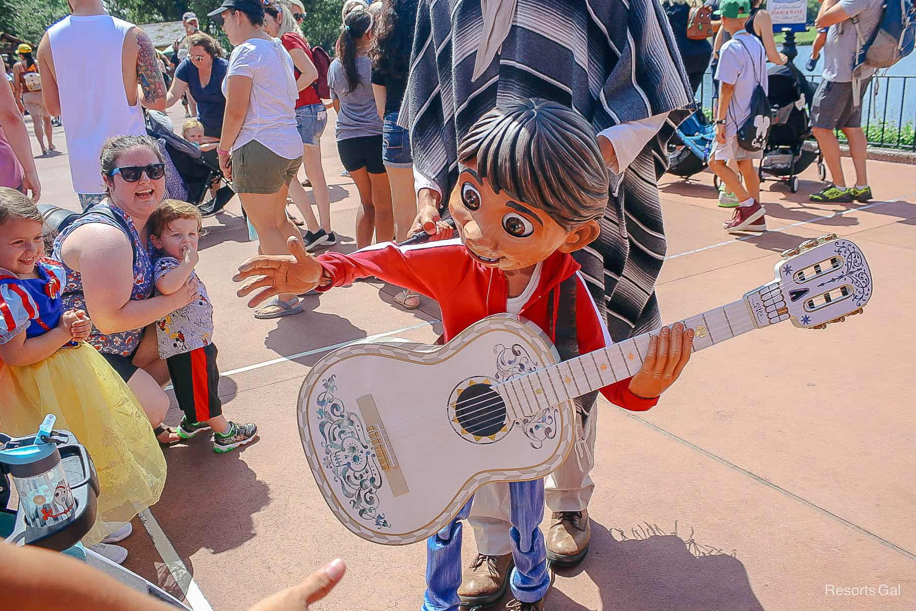
[[[368,441],[363,420],[347,411],[334,397],[336,376],[322,380],[324,390],[318,395],[318,429],[322,435],[324,468],[334,475],[356,514],[377,528],[388,528],[385,515],[379,513],[378,489],[382,486],[381,467]]]

